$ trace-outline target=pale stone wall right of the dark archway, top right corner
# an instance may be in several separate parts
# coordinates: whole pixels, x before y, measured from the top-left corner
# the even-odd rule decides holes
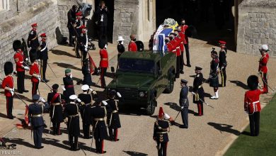
[[[270,56],[276,57],[276,1],[244,0],[238,6],[237,52],[260,55],[268,44]]]

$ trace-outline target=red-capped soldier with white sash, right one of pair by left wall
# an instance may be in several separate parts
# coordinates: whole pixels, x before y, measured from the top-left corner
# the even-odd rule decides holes
[[[47,37],[46,33],[42,33],[40,35],[41,37],[41,43],[40,43],[40,74],[41,78],[44,82],[49,82],[48,79],[46,79],[46,69],[47,69],[47,60],[48,60],[48,48],[47,48]]]

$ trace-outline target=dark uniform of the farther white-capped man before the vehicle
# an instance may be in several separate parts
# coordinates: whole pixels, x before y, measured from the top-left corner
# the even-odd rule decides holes
[[[78,96],[79,99],[84,103],[81,110],[82,126],[84,130],[84,138],[90,138],[90,108],[92,102],[91,94],[82,93]]]

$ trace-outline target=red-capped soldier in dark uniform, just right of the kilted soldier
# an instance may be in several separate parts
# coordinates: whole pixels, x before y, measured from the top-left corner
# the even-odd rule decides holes
[[[226,42],[224,40],[219,40],[219,46],[221,50],[219,51],[219,70],[222,77],[222,87],[226,87]]]

